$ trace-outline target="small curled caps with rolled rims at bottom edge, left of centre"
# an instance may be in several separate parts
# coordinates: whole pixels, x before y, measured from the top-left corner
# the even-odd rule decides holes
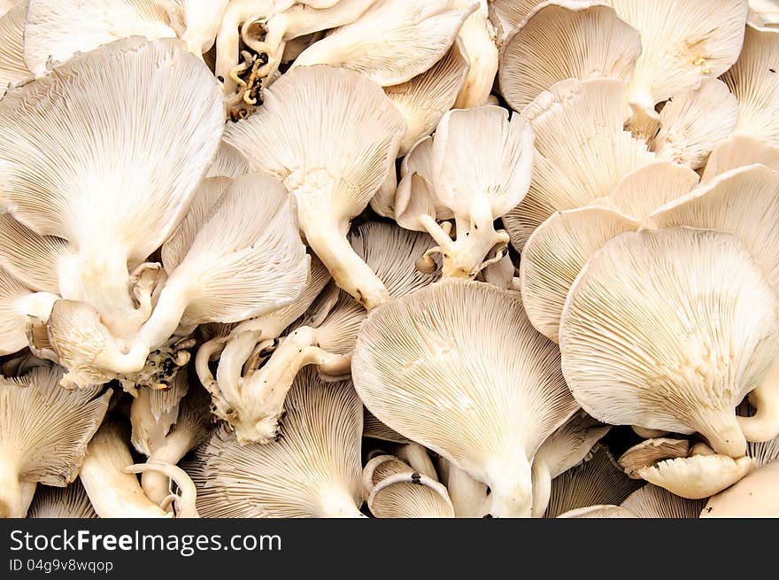
[[[392,455],[379,455],[363,469],[367,504],[378,518],[454,517],[449,492]]]

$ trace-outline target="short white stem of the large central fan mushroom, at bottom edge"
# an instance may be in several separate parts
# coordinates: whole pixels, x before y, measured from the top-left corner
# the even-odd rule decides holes
[[[530,517],[532,514],[533,479],[527,457],[511,463],[499,463],[488,471],[490,514],[493,517]]]

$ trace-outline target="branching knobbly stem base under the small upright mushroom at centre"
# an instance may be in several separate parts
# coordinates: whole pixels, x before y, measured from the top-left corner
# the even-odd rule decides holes
[[[469,205],[467,220],[457,219],[457,238],[452,240],[432,216],[422,214],[420,224],[438,246],[428,251],[440,252],[443,256],[443,276],[452,278],[474,278],[483,268],[502,258],[501,247],[509,242],[508,234],[496,231],[493,225],[490,199],[486,195],[474,196]],[[497,256],[485,259],[493,248],[498,247]]]

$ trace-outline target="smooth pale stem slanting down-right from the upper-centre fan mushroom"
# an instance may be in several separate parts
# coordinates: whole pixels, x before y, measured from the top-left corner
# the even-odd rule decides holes
[[[320,207],[298,204],[297,217],[309,247],[339,288],[354,297],[366,310],[387,302],[390,294],[374,271],[354,252],[346,239],[349,220]]]

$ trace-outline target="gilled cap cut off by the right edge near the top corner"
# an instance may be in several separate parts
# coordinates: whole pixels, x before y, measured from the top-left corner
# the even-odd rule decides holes
[[[779,30],[746,27],[744,49],[722,81],[738,99],[735,135],[779,145]],[[777,71],[777,72],[774,72]]]

